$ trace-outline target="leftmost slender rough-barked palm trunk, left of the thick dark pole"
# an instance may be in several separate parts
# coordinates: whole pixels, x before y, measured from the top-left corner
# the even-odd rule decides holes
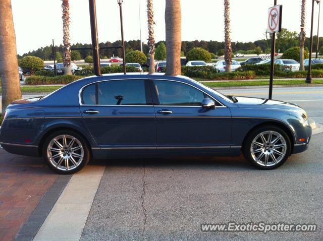
[[[71,71],[71,43],[70,43],[70,4],[69,0],[62,0],[63,9],[63,43],[64,43],[64,68],[66,75],[72,75]]]

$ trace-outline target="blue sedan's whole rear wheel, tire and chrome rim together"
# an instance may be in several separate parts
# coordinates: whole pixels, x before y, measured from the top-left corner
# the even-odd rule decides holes
[[[90,159],[86,141],[71,131],[59,131],[49,135],[44,143],[43,156],[48,166],[60,174],[75,173]]]

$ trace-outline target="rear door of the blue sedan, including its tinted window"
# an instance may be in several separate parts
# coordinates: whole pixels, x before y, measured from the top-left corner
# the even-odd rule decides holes
[[[82,89],[80,110],[100,149],[154,152],[155,113],[147,80],[107,80]]]

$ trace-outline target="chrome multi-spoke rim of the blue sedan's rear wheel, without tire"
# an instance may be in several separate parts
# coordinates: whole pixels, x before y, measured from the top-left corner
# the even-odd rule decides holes
[[[55,168],[68,171],[78,167],[84,158],[81,142],[70,135],[53,138],[47,147],[47,158]]]

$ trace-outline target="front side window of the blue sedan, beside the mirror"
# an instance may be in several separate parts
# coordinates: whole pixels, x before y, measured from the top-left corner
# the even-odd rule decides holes
[[[192,86],[174,81],[155,80],[154,87],[160,105],[200,106],[208,97]]]

